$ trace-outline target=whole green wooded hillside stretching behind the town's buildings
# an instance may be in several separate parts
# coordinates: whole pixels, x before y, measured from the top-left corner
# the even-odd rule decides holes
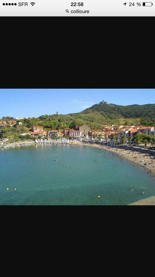
[[[5,119],[4,117],[2,119]],[[7,119],[7,118],[6,118]],[[19,121],[19,120],[18,120]],[[106,124],[142,124],[143,126],[155,126],[155,104],[120,106],[115,104],[95,104],[80,113],[74,114],[52,114],[41,115],[39,118],[20,119],[22,126],[0,128],[0,135],[3,137],[18,136],[22,132],[31,130],[32,125],[42,125],[47,131],[58,129],[60,125],[69,125],[75,128],[75,121],[78,124],[87,124],[91,129],[101,128]]]

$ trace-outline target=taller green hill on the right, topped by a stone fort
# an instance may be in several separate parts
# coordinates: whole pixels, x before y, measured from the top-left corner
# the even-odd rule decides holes
[[[77,114],[70,114],[80,121],[95,128],[108,124],[142,124],[155,125],[155,104],[121,106],[115,104],[95,104]],[[84,122],[82,122],[84,123]]]

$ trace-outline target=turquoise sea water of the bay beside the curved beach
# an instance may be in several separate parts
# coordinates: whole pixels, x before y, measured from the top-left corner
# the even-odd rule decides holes
[[[155,195],[155,175],[111,153],[67,144],[0,149],[0,205],[127,205]]]

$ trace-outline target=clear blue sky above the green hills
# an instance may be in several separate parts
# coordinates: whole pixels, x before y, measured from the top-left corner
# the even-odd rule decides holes
[[[76,113],[102,100],[123,106],[153,104],[155,89],[0,89],[0,118]]]

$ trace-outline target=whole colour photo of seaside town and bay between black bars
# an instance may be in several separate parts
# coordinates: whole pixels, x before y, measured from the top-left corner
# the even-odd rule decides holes
[[[155,89],[0,97],[0,205],[155,205]]]

